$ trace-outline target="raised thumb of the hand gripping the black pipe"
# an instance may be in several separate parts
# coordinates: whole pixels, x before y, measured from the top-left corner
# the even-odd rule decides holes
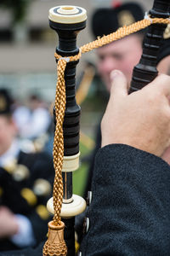
[[[127,96],[127,79],[120,70],[113,70],[111,72],[111,96],[120,98]]]

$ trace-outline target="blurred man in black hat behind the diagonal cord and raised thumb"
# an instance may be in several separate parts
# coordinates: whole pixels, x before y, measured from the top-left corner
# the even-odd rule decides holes
[[[92,17],[92,32],[94,38],[102,37],[111,32],[116,32],[119,27],[128,26],[133,24],[133,22],[143,19],[144,9],[139,3],[129,2],[116,4],[116,6],[111,8],[102,8],[94,11]],[[108,95],[111,89],[111,72],[114,69],[122,71],[129,86],[133,67],[139,62],[142,54],[143,39],[144,30],[96,49],[96,67]],[[84,191],[84,197],[87,196],[88,191],[91,188],[91,180],[94,172],[94,158],[101,145],[101,131],[99,124],[97,125],[96,130],[95,147],[90,157],[88,183]]]

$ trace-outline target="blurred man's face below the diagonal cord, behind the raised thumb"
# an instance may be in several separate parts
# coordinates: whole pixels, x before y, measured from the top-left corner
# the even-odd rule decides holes
[[[130,83],[133,67],[139,62],[141,54],[141,38],[138,35],[122,38],[97,49],[97,68],[107,90],[110,91],[110,73],[114,69],[121,70]]]

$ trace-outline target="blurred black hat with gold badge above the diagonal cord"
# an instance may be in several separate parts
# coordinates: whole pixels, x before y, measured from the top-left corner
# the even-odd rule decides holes
[[[94,37],[103,37],[116,32],[119,27],[128,26],[144,19],[144,9],[139,3],[124,3],[111,8],[97,9],[92,18]]]

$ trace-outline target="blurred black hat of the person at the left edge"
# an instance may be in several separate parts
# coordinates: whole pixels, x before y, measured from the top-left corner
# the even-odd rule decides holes
[[[13,100],[8,90],[0,88],[0,114],[12,113],[12,103]]]

